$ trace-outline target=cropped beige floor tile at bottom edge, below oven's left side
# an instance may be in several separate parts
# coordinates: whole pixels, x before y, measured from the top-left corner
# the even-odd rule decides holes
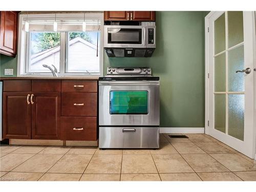
[[[120,174],[83,174],[80,181],[120,181]]]

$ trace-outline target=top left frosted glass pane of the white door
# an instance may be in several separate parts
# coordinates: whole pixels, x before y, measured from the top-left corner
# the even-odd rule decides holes
[[[214,22],[215,54],[225,50],[225,13]]]

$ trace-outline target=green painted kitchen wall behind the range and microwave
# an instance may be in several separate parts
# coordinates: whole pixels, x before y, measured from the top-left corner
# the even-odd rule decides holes
[[[152,67],[160,77],[160,126],[204,127],[204,16],[207,12],[158,11],[157,48],[150,58],[109,58],[106,67]],[[1,55],[1,76],[16,58]]]

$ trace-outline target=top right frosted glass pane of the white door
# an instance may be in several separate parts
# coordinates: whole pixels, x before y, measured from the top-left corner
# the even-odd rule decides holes
[[[244,41],[243,11],[228,11],[228,47]]]

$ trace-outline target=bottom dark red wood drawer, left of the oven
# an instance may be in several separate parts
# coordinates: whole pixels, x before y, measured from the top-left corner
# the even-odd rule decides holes
[[[61,117],[61,140],[96,141],[96,117]]]

